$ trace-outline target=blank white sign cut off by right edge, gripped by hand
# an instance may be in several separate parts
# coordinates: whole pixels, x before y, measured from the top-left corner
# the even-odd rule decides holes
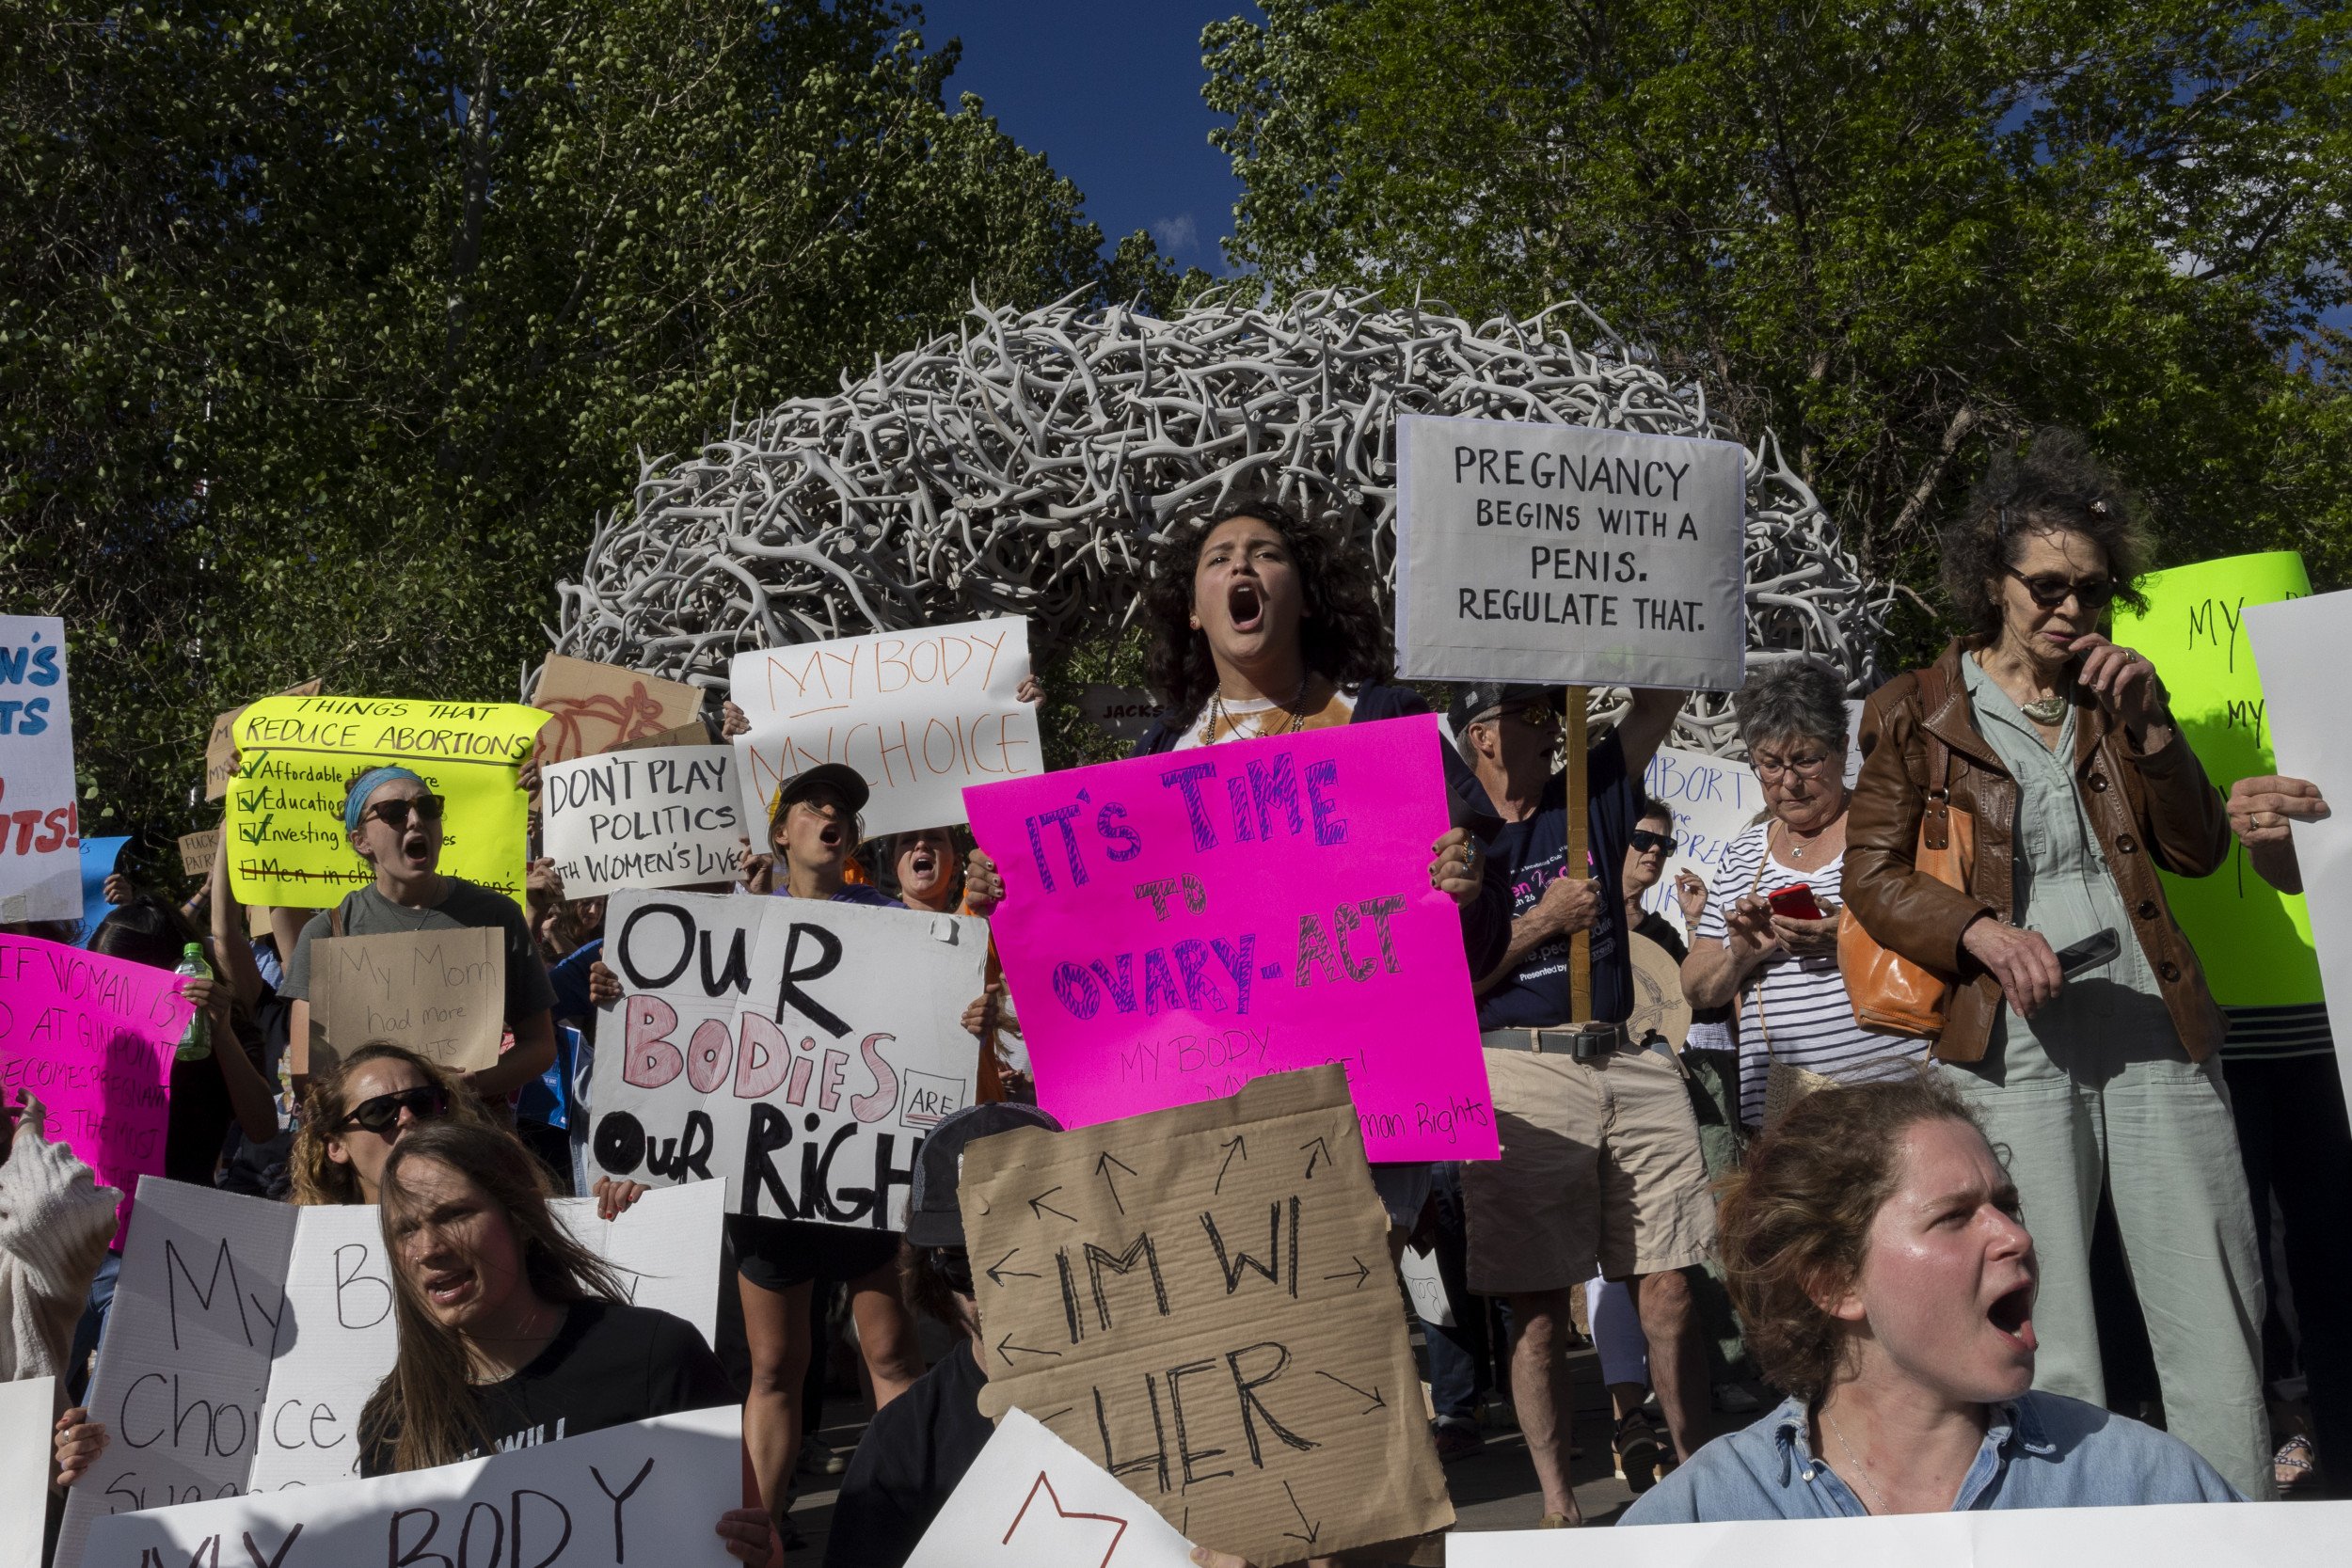
[[[2352,616],[2352,592],[2251,604],[2244,625],[2263,670],[2263,731],[2279,773],[2310,778],[2333,806],[2324,823],[2296,823],[2296,865],[2319,973],[2336,976],[2326,985],[2328,1027],[2352,1095],[2352,724],[2343,722],[2340,616]],[[2253,879],[2253,867],[2246,877]]]

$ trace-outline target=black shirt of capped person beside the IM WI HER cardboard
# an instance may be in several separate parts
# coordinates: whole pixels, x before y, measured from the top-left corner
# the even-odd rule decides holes
[[[995,1425],[981,1415],[981,1366],[964,1340],[882,1406],[842,1476],[826,1568],[903,1568]]]

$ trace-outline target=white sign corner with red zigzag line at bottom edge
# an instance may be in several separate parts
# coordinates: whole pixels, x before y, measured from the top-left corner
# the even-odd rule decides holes
[[[1192,1544],[1103,1467],[1007,1410],[906,1568],[1192,1568]]]

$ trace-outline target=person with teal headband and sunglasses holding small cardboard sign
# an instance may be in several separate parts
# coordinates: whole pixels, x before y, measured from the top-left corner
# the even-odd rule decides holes
[[[555,1065],[555,1018],[548,1011],[555,987],[532,926],[513,898],[440,875],[442,799],[433,785],[397,766],[360,773],[343,795],[343,832],[376,879],[313,914],[294,940],[278,987],[294,1004],[289,1037],[310,1039],[310,950],[320,938],[482,926],[499,933],[506,952],[506,1027],[515,1044],[496,1065],[468,1072],[466,1084],[485,1098],[503,1098]]]

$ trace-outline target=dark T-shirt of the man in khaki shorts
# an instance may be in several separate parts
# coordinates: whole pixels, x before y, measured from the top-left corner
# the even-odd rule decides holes
[[[1489,816],[1498,816],[1486,792],[1475,783],[1472,804]],[[1632,835],[1639,795],[1625,773],[1625,743],[1611,729],[1585,759],[1585,858],[1592,879],[1602,891],[1599,922],[1592,926],[1592,1018],[1599,1023],[1623,1023],[1632,1016],[1632,954],[1625,947],[1625,839]],[[1526,914],[1543,898],[1543,889],[1566,872],[1569,858],[1569,778],[1555,773],[1543,788],[1543,804],[1519,823],[1503,823],[1486,853],[1510,877],[1512,919]],[[1569,938],[1559,936],[1510,971],[1501,985],[1479,997],[1477,1027],[1482,1030],[1548,1030],[1573,1023],[1569,1016]]]

